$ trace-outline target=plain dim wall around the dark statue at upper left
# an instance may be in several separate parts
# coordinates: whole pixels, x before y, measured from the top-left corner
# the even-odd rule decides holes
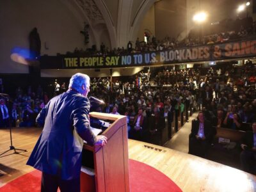
[[[56,55],[85,48],[83,17],[74,15],[63,1],[0,1],[0,73],[28,73],[28,66],[10,59],[13,47],[29,48],[29,33],[38,29],[41,54]],[[90,34],[92,46],[93,35]],[[45,45],[46,44],[46,45]]]

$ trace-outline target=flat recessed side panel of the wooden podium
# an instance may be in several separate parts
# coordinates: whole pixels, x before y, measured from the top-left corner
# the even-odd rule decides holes
[[[125,191],[122,129],[118,129],[107,145],[103,151],[106,191]]]

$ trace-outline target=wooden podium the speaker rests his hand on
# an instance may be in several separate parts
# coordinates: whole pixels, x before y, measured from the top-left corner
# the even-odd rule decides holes
[[[93,118],[111,120],[111,125],[101,134],[108,138],[104,147],[84,144],[93,153],[95,191],[129,192],[129,162],[126,116],[107,113],[90,113]],[[86,180],[82,180],[81,186]]]

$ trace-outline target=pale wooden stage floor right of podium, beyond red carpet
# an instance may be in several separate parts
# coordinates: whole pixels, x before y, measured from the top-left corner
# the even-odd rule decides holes
[[[255,191],[255,175],[170,148],[129,140],[129,158],[163,172],[182,191]]]

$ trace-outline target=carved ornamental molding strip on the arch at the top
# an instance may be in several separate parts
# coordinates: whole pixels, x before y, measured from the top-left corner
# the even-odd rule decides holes
[[[86,16],[92,20],[103,20],[102,13],[100,12],[97,4],[93,0],[75,0],[76,3],[82,8]]]

